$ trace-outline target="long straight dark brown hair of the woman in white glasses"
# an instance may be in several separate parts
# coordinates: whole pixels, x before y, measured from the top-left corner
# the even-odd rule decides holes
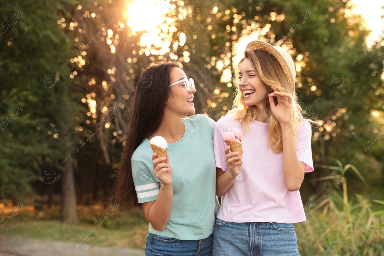
[[[131,157],[142,141],[159,129],[171,97],[171,68],[182,69],[180,63],[162,61],[149,64],[137,79],[136,92],[132,99],[130,118],[124,132],[124,150],[111,196],[124,208],[141,205],[132,178]],[[148,156],[149,157],[149,156]]]

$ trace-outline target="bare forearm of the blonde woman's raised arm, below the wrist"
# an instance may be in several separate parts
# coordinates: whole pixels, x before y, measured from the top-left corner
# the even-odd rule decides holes
[[[299,190],[304,179],[304,170],[298,160],[290,125],[281,125],[283,132],[283,176],[289,191]]]

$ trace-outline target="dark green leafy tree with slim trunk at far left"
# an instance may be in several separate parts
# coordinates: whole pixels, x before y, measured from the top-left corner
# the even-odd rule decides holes
[[[31,181],[48,178],[45,167],[62,171],[63,218],[78,223],[73,136],[84,111],[74,100],[78,82],[68,78],[71,39],[58,26],[70,6],[50,0],[1,6],[7,26],[0,36],[1,197],[20,200],[33,192]]]

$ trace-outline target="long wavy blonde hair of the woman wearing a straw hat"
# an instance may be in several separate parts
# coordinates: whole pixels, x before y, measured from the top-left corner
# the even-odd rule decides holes
[[[292,97],[292,106],[291,106],[291,116],[292,116],[292,127],[293,129],[293,138],[296,144],[296,130],[298,128],[298,122],[304,120],[299,105],[297,104],[297,95],[295,91],[292,91],[288,81],[283,73],[279,62],[275,57],[269,53],[262,50],[251,50],[246,49],[244,51],[244,58],[239,62],[236,70],[236,76],[240,72],[240,65],[244,59],[249,59],[252,63],[252,66],[255,68],[255,71],[258,77],[263,81],[266,86],[267,92],[263,103],[264,113],[267,117],[268,127],[269,127],[269,137],[270,137],[270,148],[274,153],[280,153],[283,151],[283,133],[281,131],[281,126],[273,116],[271,107],[269,104],[268,94],[272,93],[273,90],[271,87],[275,87],[278,91],[289,94]],[[238,85],[238,81],[237,81]],[[247,127],[249,129],[249,122],[253,122],[256,119],[257,111],[256,106],[247,106],[245,105],[245,100],[242,92],[240,91],[239,86],[236,88],[235,99],[233,101],[232,108],[225,114],[230,115],[236,113],[235,119],[240,121],[242,129],[245,132]],[[307,119],[306,119],[307,120]]]

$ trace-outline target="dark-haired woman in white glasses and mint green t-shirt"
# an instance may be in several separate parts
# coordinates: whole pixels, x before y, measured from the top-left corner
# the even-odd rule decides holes
[[[212,254],[215,121],[203,114],[182,118],[195,113],[195,91],[174,62],[150,64],[137,81],[113,199],[126,208],[142,205],[146,255]],[[155,136],[167,141],[164,159],[149,144]]]

